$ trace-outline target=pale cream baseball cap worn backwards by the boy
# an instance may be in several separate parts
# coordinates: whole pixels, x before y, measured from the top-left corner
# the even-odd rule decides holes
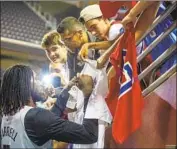
[[[100,6],[98,4],[89,5],[85,7],[80,12],[79,21],[80,22],[87,22],[89,20],[101,17],[103,14],[100,10]]]

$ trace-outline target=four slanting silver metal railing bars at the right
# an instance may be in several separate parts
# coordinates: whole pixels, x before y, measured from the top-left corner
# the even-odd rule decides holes
[[[159,15],[152,26],[147,30],[147,32],[143,35],[143,37],[136,43],[138,45],[161,21],[163,21],[166,17],[170,15],[170,13],[176,8],[176,2],[173,2],[169,8]],[[140,62],[143,58],[145,58],[163,39],[165,39],[175,28],[177,21],[174,23],[163,33],[161,33],[145,50],[144,52],[137,57],[137,62]],[[176,44],[173,44],[168,48],[165,52],[163,52],[152,64],[150,64],[143,72],[139,74],[139,80],[142,80],[147,74],[152,73],[152,75],[156,72],[157,68],[162,65],[177,49]],[[147,96],[153,90],[155,90],[159,85],[161,85],[164,81],[166,81],[170,76],[172,76],[177,70],[177,65],[172,66],[166,73],[161,75],[157,80],[152,84],[150,84],[143,92],[143,96]]]

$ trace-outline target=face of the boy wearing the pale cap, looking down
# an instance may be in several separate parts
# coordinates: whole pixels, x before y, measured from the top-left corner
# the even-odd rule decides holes
[[[109,24],[103,18],[96,18],[85,23],[87,30],[99,39],[104,39],[109,31]]]

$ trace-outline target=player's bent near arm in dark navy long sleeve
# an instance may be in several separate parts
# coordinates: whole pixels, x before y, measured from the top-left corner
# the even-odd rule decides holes
[[[38,146],[51,139],[75,144],[91,144],[98,138],[96,119],[84,119],[80,125],[63,120],[48,110],[34,108],[28,111],[24,123],[28,137]]]

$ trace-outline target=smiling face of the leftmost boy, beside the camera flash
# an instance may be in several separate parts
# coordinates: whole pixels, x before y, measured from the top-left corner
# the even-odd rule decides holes
[[[67,58],[67,51],[66,47],[55,45],[51,46],[48,49],[46,49],[47,57],[52,61],[53,63],[65,63]]]

